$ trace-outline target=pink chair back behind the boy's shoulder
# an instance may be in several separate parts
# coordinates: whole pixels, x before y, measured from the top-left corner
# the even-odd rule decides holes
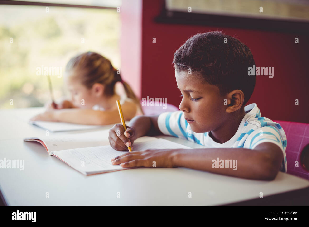
[[[309,180],[309,172],[303,168],[300,162],[301,152],[309,144],[309,124],[281,120],[273,121],[280,124],[286,133],[286,172]],[[298,166],[295,166],[296,161],[298,161]]]

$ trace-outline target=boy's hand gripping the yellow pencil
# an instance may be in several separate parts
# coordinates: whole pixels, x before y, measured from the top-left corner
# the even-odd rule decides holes
[[[127,130],[124,130],[122,124],[115,124],[109,130],[108,141],[113,149],[118,151],[128,151],[128,147],[132,146],[134,140],[137,139],[135,130],[130,126],[126,127]]]

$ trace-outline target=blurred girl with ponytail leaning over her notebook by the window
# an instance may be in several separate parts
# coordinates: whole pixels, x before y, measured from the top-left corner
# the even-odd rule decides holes
[[[140,101],[129,84],[102,55],[87,52],[72,58],[66,65],[65,75],[71,100],[49,103],[44,113],[31,120],[114,124],[120,121],[116,100],[120,100],[125,120],[143,114]],[[124,94],[115,92],[116,82],[122,83]]]

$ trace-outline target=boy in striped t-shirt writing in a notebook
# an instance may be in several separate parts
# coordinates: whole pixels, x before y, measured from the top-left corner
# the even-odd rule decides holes
[[[112,164],[151,167],[156,161],[157,167],[264,180],[274,179],[279,170],[286,172],[283,129],[261,117],[256,103],[245,106],[255,86],[255,76],[248,75],[255,62],[245,44],[218,31],[197,34],[175,52],[173,64],[182,94],[180,111],[134,117],[125,132],[116,124],[109,131],[110,145],[125,151],[138,137],[166,134],[205,148],[135,151],[112,159]],[[227,162],[221,159],[237,168],[224,166]]]

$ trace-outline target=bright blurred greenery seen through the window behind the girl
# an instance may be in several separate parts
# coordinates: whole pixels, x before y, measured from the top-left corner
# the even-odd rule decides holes
[[[0,108],[43,106],[50,101],[47,76],[38,67],[58,67],[51,75],[57,100],[68,95],[66,63],[94,51],[120,67],[120,14],[113,9],[0,5]],[[14,105],[10,105],[13,99]]]

